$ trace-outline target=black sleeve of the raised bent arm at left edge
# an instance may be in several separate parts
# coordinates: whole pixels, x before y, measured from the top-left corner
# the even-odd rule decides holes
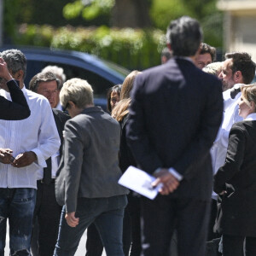
[[[0,96],[0,119],[20,120],[30,116],[30,109],[22,90],[15,80],[7,83],[12,102]]]

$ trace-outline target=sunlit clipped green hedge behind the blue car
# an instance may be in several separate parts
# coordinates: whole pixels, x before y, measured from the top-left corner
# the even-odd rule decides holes
[[[72,49],[97,55],[123,67],[143,70],[160,64],[166,45],[165,33],[158,29],[74,28],[22,25],[15,44]]]

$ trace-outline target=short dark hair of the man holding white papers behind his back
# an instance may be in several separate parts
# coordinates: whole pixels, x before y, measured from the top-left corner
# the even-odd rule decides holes
[[[199,22],[189,16],[172,20],[166,32],[167,43],[171,44],[173,55],[193,56],[202,41]]]

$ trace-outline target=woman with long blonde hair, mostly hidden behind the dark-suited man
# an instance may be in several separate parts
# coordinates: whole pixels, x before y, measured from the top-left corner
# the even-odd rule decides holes
[[[129,166],[136,166],[130,148],[126,143],[126,122],[129,119],[129,106],[131,102],[131,89],[134,79],[140,72],[131,72],[122,85],[120,102],[113,108],[112,116],[121,125],[121,138],[119,148],[119,167],[125,172]],[[125,208],[123,245],[125,255],[139,256],[141,253],[141,229],[140,229],[140,199],[131,191],[128,195],[128,205]],[[131,247],[131,249],[130,249]]]

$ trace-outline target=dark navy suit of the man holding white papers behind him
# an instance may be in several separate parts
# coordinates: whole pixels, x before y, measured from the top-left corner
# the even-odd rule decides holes
[[[137,76],[127,137],[138,165],[183,176],[174,193],[143,199],[143,255],[168,255],[174,220],[179,255],[204,255],[212,194],[209,149],[222,119],[221,82],[173,58]],[[196,235],[195,235],[196,233]]]

